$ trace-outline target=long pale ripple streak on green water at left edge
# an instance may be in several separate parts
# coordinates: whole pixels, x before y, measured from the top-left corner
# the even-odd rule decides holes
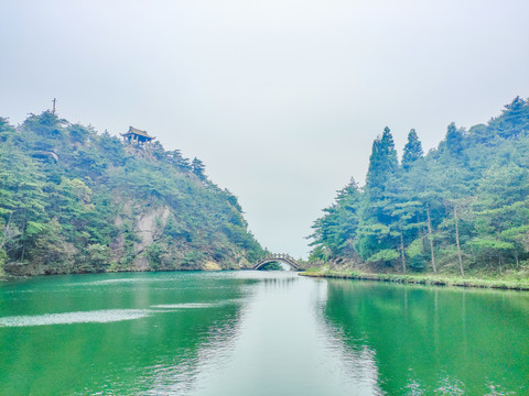
[[[133,320],[151,315],[147,309],[104,309],[80,312],[13,316],[0,318],[0,327],[28,327],[73,323],[107,323]]]

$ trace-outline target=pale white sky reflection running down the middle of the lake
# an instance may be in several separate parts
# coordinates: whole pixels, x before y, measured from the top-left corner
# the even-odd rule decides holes
[[[326,282],[285,273],[259,276],[233,334],[199,353],[206,359],[188,394],[380,394],[373,353],[344,353],[342,338],[323,320]]]

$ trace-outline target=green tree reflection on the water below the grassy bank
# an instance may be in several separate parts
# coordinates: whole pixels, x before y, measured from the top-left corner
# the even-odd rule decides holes
[[[328,282],[324,315],[390,395],[528,393],[527,295]]]

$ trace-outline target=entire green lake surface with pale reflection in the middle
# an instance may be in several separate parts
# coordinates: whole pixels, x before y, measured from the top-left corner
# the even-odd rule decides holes
[[[289,272],[0,283],[0,395],[529,395],[529,294]]]

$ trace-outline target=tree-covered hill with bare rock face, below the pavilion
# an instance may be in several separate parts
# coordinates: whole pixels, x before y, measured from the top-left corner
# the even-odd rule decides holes
[[[0,118],[0,275],[239,268],[262,253],[199,160],[51,111]]]

